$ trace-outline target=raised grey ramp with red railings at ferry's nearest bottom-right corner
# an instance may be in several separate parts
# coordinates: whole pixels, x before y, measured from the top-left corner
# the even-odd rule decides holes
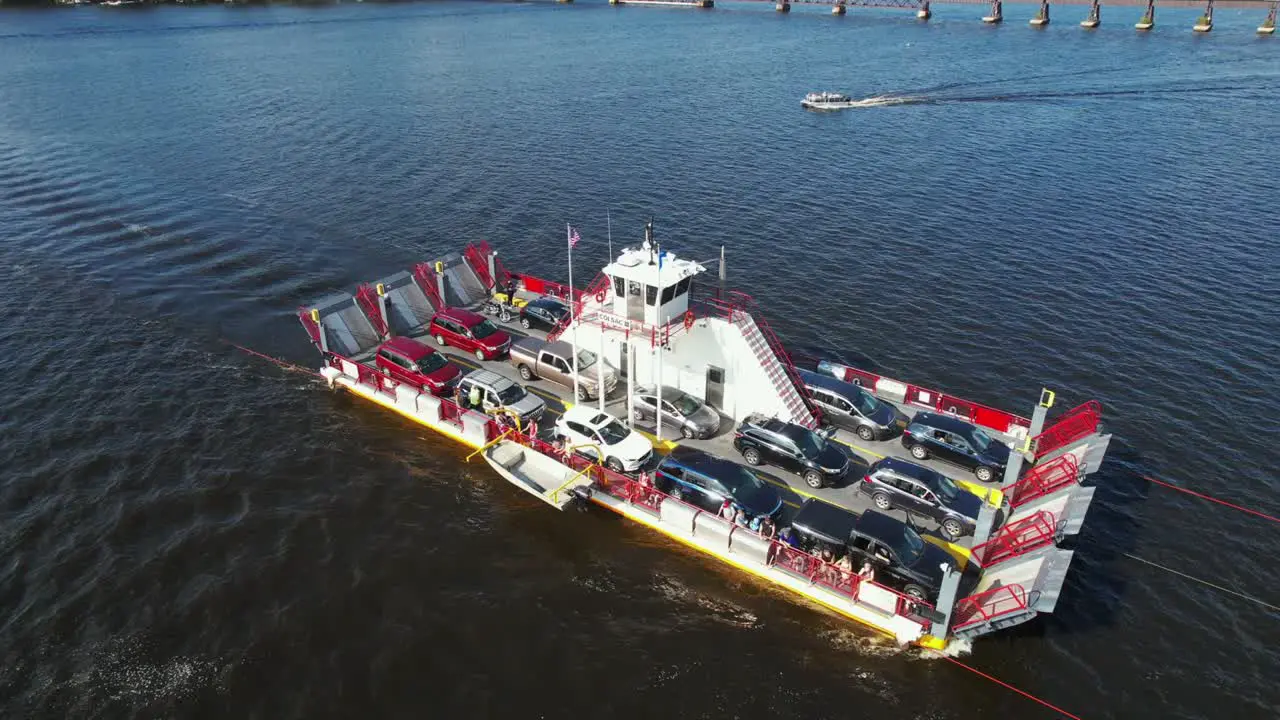
[[[951,633],[975,638],[1052,612],[1073,555],[1044,547],[984,569],[974,592],[956,603]]]

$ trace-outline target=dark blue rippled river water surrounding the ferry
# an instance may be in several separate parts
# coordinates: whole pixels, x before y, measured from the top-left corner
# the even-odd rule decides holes
[[[6,717],[1048,717],[224,341],[486,238],[650,215],[794,345],[1116,433],[1052,618],[964,660],[1088,719],[1272,717],[1280,45],[767,5],[0,14]],[[1080,15],[1074,17],[1073,13]],[[1134,17],[1128,17],[1129,14]],[[920,102],[841,114],[813,90]]]

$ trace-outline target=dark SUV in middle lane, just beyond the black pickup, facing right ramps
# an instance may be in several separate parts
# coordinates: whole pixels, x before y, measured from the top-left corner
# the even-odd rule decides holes
[[[897,457],[873,462],[858,489],[881,510],[901,507],[933,519],[948,541],[972,536],[982,510],[982,498],[951,478]]]

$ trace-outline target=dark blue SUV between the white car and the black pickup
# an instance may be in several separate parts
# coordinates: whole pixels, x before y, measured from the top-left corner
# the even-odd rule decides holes
[[[718,512],[726,498],[753,518],[782,511],[778,491],[755,473],[692,447],[676,446],[658,465],[654,484],[710,512]]]

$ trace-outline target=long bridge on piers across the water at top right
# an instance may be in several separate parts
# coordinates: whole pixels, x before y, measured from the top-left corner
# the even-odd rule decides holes
[[[559,0],[572,3],[573,0]],[[791,5],[823,5],[829,6],[833,15],[844,15],[849,8],[890,8],[900,10],[914,10],[915,17],[927,20],[933,17],[931,4],[973,4],[988,5],[989,10],[982,17],[982,22],[988,24],[1001,23],[1005,19],[1004,0],[735,0],[741,3],[773,3],[774,10],[790,13]],[[609,0],[611,5],[666,5],[684,8],[710,9],[714,0]],[[1050,22],[1050,0],[1039,0],[1039,12],[1030,19],[1033,27],[1043,27]],[[1080,27],[1092,29],[1102,24],[1102,0],[1053,0],[1055,5],[1088,5],[1088,15],[1080,22]],[[1107,0],[1112,6],[1139,6],[1144,8],[1142,18],[1134,24],[1139,31],[1148,31],[1156,27],[1156,0]],[[1275,35],[1276,6],[1280,0],[1160,0],[1161,8],[1203,8],[1204,12],[1196,19],[1192,29],[1196,32],[1210,32],[1213,29],[1213,8],[1247,8],[1266,10],[1266,18],[1258,26],[1258,35]]]

